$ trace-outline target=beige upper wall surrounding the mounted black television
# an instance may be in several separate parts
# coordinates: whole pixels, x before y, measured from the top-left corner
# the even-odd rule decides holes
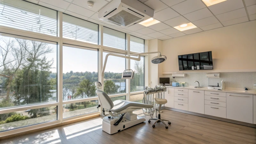
[[[178,55],[206,51],[212,51],[214,70],[183,72],[256,71],[256,20],[162,41],[162,70],[179,71]]]

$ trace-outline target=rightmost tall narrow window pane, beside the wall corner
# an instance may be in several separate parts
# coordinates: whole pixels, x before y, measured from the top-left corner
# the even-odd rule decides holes
[[[131,60],[131,69],[135,71],[134,79],[131,79],[131,92],[144,90],[144,57],[140,61]]]

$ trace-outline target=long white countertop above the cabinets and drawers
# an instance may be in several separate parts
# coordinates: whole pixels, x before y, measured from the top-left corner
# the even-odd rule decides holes
[[[233,93],[244,93],[244,94],[256,94],[256,91],[253,91],[253,90],[245,91],[244,89],[240,89],[240,88],[226,88],[226,89],[220,91],[220,90],[210,90],[207,87],[195,88],[195,86],[187,86],[187,87],[165,86],[165,87],[179,88],[179,89],[191,89],[191,90],[213,91],[213,92],[233,92]]]

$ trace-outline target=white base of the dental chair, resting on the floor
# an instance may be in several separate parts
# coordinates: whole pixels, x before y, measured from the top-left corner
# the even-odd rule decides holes
[[[140,124],[146,121],[145,118],[142,118],[140,116],[137,116],[136,119],[132,121],[128,120],[126,117],[123,117],[122,121],[118,125],[114,125],[119,118],[120,117],[116,117],[116,118],[113,118],[113,117],[108,118],[108,116],[104,117],[102,121],[102,130],[104,132],[107,132],[108,134],[114,134],[116,132],[120,132],[124,129],[132,127],[133,125]]]

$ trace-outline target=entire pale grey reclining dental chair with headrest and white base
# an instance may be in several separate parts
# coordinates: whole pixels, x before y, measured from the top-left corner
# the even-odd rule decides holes
[[[100,88],[101,83],[95,82],[95,86]],[[127,100],[116,100],[113,102],[105,92],[96,90],[96,93],[100,101],[100,107],[108,110],[110,115],[104,117],[102,121],[102,130],[109,134],[114,134],[133,125],[145,122],[145,118],[132,112],[141,108],[153,108],[152,105]]]

